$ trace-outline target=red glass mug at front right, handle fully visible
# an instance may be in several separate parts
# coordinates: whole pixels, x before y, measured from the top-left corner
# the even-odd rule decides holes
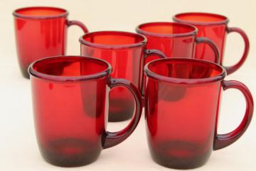
[[[212,150],[234,143],[250,124],[252,94],[241,82],[224,80],[226,72],[220,65],[169,58],[149,62],[144,73],[147,139],[151,157],[160,165],[176,169],[199,167],[206,163]],[[222,88],[242,92],[246,110],[234,131],[218,134]],[[176,94],[182,89],[186,93],[176,101],[166,101],[166,94],[174,89]]]

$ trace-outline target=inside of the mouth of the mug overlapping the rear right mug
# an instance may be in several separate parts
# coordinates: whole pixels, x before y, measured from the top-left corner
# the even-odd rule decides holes
[[[183,34],[196,31],[196,28],[181,23],[145,23],[138,27],[141,31],[157,34]]]

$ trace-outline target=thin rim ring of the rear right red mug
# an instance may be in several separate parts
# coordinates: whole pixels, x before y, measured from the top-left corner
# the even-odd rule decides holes
[[[186,16],[186,15],[202,15],[202,16],[214,16],[218,18],[223,18],[223,21],[213,21],[213,22],[206,22],[206,21],[186,21],[181,18],[178,18],[178,16]],[[228,24],[229,19],[226,16],[217,14],[217,13],[203,13],[203,12],[186,12],[186,13],[177,13],[175,16],[173,16],[173,20],[179,23],[188,23],[191,25],[197,25],[197,26],[215,26],[215,25],[222,25],[222,24]]]

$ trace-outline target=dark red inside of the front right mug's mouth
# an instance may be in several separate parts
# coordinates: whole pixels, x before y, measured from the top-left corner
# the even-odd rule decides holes
[[[186,58],[170,58],[164,60],[155,60],[146,66],[146,74],[149,70],[154,77],[164,77],[167,79],[183,79],[183,82],[193,80],[209,79],[214,80],[217,77],[225,77],[225,70],[220,65],[203,60],[193,60]]]

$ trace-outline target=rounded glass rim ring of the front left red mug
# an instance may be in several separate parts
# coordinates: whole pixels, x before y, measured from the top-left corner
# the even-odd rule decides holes
[[[55,59],[87,59],[87,60],[94,60],[97,62],[101,62],[104,63],[107,67],[105,70],[102,70],[101,72],[97,72],[95,74],[91,74],[91,75],[80,75],[80,76],[57,76],[57,75],[48,75],[48,74],[44,74],[42,72],[38,72],[36,71],[33,67],[34,65],[36,65],[38,62],[43,62],[46,60],[55,60]],[[89,56],[79,56],[79,55],[58,55],[58,56],[53,56],[53,57],[45,57],[45,58],[41,58],[40,60],[36,60],[34,62],[31,63],[31,65],[29,65],[28,67],[28,73],[36,78],[39,79],[47,79],[47,80],[51,80],[51,81],[58,81],[58,82],[69,82],[69,81],[85,81],[85,80],[89,80],[89,79],[100,79],[102,77],[105,77],[107,75],[110,75],[112,72],[112,66],[110,65],[109,62],[105,61],[105,60],[101,60],[95,57],[89,57]]]

